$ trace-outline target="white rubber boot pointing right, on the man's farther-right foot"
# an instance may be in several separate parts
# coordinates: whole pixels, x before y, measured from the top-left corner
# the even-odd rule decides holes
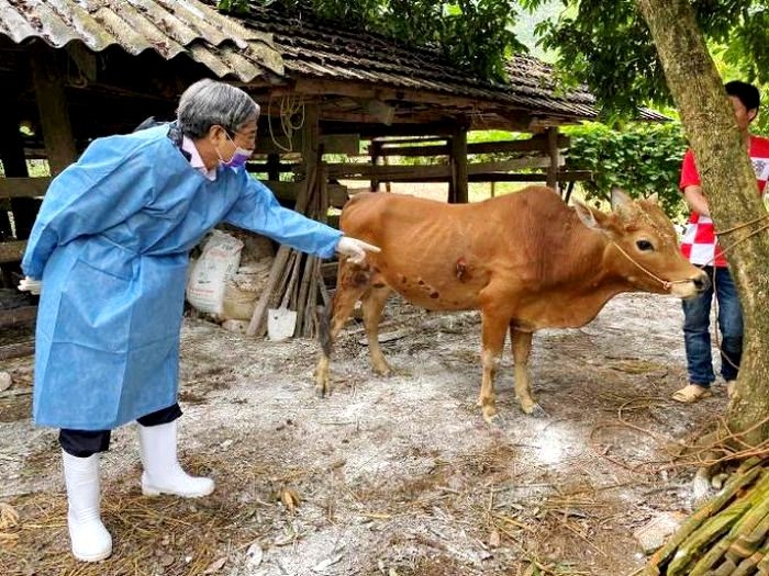
[[[190,476],[181,470],[176,455],[176,420],[158,426],[138,425],[138,440],[144,465],[142,493],[145,496],[174,494],[198,498],[213,492],[211,478]]]

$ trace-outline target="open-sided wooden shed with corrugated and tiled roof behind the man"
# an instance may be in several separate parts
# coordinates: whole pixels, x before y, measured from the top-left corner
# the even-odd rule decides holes
[[[558,126],[594,118],[593,98],[557,92],[535,58],[514,57],[509,72],[509,83],[468,76],[434,52],[308,12],[230,15],[201,0],[0,0],[4,283],[51,176],[94,137],[147,116],[171,120],[180,93],[202,77],[237,84],[260,104],[261,155],[249,169],[313,217],[344,202],[348,191],[334,184],[343,179],[374,188],[444,181],[448,201],[467,202],[470,181],[584,177],[561,171],[568,142]],[[532,137],[467,143],[468,131],[490,128]],[[504,158],[468,162],[483,153]],[[387,166],[390,156],[431,161]],[[34,160],[47,162],[32,173]]]

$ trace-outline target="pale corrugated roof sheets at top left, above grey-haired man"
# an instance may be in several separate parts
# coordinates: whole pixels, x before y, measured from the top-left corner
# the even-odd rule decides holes
[[[200,0],[0,0],[0,34],[22,44],[41,38],[56,48],[81,42],[93,52],[118,45],[132,55],[179,54],[219,78],[249,82],[283,75],[269,33],[241,25]]]

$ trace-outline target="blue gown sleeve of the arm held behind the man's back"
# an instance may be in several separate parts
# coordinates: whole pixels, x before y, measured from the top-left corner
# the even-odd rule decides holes
[[[138,212],[152,194],[152,165],[120,137],[94,140],[48,187],[26,242],[22,270],[34,279],[57,246],[103,231]]]

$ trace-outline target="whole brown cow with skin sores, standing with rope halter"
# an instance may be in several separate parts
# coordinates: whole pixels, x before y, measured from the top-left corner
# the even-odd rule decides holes
[[[583,326],[621,292],[686,298],[709,285],[705,273],[680,255],[656,197],[634,202],[620,190],[612,191],[610,214],[579,203],[569,207],[543,187],[472,204],[365,193],[345,205],[339,225],[345,234],[379,246],[381,253],[369,253],[363,266],[339,261],[331,334],[326,325],[315,372],[321,395],[330,392],[331,345],[358,300],[371,363],[381,375],[390,366],[377,332],[391,291],[431,310],[479,309],[479,404],[491,422],[494,374],[508,329],[515,396],[524,413],[542,413],[526,371],[532,332]]]

